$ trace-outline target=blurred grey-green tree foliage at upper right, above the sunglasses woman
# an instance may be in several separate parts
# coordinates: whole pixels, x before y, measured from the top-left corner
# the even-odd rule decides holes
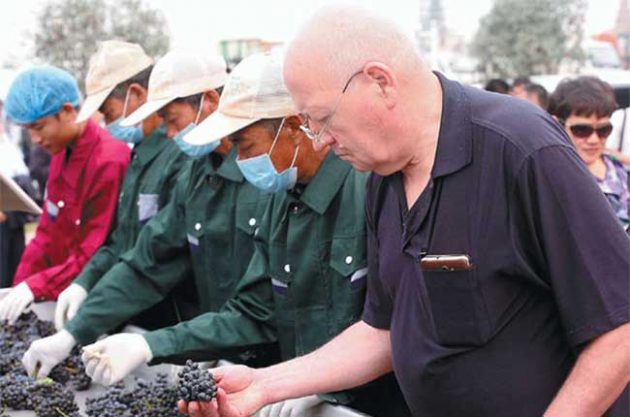
[[[487,77],[556,73],[580,62],[586,0],[495,0],[472,52]]]

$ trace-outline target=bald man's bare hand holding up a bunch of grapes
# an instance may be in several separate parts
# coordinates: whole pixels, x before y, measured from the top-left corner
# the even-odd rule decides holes
[[[218,386],[216,400],[209,402],[180,401],[179,411],[191,417],[250,417],[265,405],[258,371],[243,365],[224,366],[211,370]]]

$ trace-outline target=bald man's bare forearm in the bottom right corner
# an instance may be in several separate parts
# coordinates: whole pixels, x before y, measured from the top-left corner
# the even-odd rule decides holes
[[[630,324],[591,342],[558,392],[546,417],[601,416],[630,382]]]

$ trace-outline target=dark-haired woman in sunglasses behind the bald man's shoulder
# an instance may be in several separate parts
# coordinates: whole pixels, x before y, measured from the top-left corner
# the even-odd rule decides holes
[[[564,126],[617,218],[628,230],[630,178],[621,162],[604,153],[606,139],[612,132],[610,116],[616,108],[612,88],[596,77],[561,82],[549,103],[549,112]]]

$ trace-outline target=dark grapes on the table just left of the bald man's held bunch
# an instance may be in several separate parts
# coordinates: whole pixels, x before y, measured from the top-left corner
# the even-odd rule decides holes
[[[137,379],[132,388],[125,388],[123,382],[111,386],[85,401],[85,413],[89,417],[181,417],[177,400],[177,391],[160,374],[154,382]]]

